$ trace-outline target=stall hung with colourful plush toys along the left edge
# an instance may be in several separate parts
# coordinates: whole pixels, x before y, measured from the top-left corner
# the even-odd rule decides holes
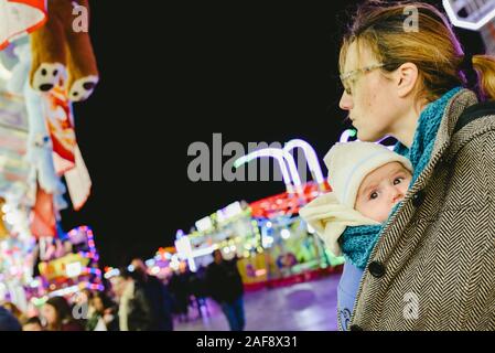
[[[72,107],[98,82],[88,9],[87,0],[0,0],[0,301],[21,309],[46,289],[43,284],[56,289],[51,281],[63,277],[60,271],[97,275],[88,269],[94,259],[69,254],[71,240],[63,239],[60,226],[67,191],[79,210],[92,188]],[[71,231],[68,237],[78,232],[94,244],[89,228]],[[40,258],[51,249],[47,263]]]

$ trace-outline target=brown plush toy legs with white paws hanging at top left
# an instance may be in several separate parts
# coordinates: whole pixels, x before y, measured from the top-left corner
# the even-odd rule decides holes
[[[98,83],[96,58],[87,33],[88,0],[50,0],[49,20],[31,34],[30,83],[47,92],[58,84],[68,99],[87,99]]]

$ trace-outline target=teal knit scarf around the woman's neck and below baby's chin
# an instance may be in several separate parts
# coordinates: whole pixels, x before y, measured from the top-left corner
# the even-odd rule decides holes
[[[419,174],[430,161],[431,151],[433,150],[434,140],[445,107],[452,97],[461,89],[461,87],[455,87],[449,90],[442,97],[430,103],[424,108],[419,117],[418,127],[410,149],[400,142],[397,142],[395,146],[395,152],[411,161],[413,173],[409,188],[412,186]],[[389,217],[397,211],[399,205],[400,203],[391,210]],[[356,267],[364,269],[386,223],[387,222],[384,222],[381,225],[347,227],[341,236],[342,253],[344,254],[345,259]]]

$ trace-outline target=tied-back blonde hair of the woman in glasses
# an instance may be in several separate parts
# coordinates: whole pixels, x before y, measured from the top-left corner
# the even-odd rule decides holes
[[[418,31],[406,31],[406,7],[418,10]],[[419,71],[419,98],[435,100],[455,86],[464,86],[481,99],[495,98],[495,57],[464,55],[446,18],[433,6],[421,2],[368,1],[361,6],[344,35],[340,69],[343,72],[348,47],[367,45],[384,64],[383,72],[392,72],[403,63],[413,63]],[[472,63],[466,63],[472,61]],[[467,67],[472,65],[472,69]],[[467,67],[466,67],[467,66]]]

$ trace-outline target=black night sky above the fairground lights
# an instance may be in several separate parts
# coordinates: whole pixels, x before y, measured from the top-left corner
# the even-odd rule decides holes
[[[187,147],[212,148],[214,132],[245,148],[302,138],[322,159],[349,127],[336,62],[356,2],[93,1],[100,83],[75,104],[93,190],[83,210],[63,211],[64,231],[92,226],[101,264],[121,266],[232,202],[284,191],[273,181],[190,182]],[[477,33],[460,34],[483,50]]]

